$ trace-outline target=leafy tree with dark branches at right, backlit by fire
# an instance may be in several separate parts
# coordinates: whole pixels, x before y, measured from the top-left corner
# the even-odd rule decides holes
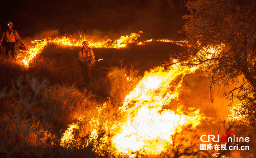
[[[255,121],[256,107],[256,2],[252,0],[189,0],[184,31],[192,47],[184,65],[197,65],[208,72],[211,86],[239,83],[249,118]],[[250,103],[249,103],[250,102]]]

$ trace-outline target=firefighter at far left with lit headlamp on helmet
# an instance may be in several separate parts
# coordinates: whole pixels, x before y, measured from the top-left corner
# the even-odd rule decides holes
[[[2,38],[0,40],[0,47],[2,47],[2,43],[3,43],[3,45],[6,47],[5,49],[6,56],[8,57],[8,54],[10,51],[11,57],[15,59],[14,54],[16,54],[15,53],[16,42],[19,41],[22,46],[24,46],[24,44],[22,43],[22,40],[18,32],[12,28],[13,27],[12,22],[9,22],[7,24],[7,27],[8,27],[8,30],[6,30],[3,33]]]

